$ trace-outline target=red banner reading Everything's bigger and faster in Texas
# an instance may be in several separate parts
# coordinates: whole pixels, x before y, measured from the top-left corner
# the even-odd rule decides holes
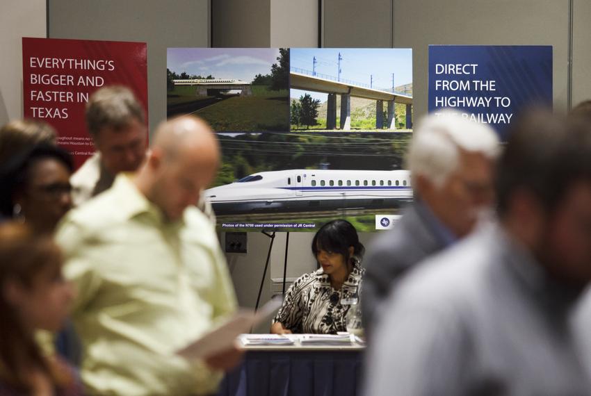
[[[126,85],[147,117],[144,42],[23,38],[22,58],[24,117],[54,126],[58,145],[72,153],[76,168],[95,152],[84,116],[92,92]]]

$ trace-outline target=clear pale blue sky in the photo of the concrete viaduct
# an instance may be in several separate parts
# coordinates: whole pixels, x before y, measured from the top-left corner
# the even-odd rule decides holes
[[[316,57],[316,73],[337,77],[338,59],[341,53],[340,79],[370,85],[373,75],[373,88],[391,90],[392,73],[396,87],[412,83],[412,49],[387,48],[292,48],[290,66],[312,71]],[[290,90],[290,97],[299,98],[306,91]],[[327,94],[307,92],[314,99],[326,101]]]

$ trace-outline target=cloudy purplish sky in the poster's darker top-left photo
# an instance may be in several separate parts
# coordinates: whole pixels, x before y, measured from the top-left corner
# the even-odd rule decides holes
[[[181,74],[211,74],[216,79],[250,83],[257,74],[270,74],[277,48],[168,48],[166,67]]]

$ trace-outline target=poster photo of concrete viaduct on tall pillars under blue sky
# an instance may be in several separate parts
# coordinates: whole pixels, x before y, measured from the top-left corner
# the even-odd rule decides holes
[[[292,131],[412,131],[411,49],[291,49],[289,77]]]

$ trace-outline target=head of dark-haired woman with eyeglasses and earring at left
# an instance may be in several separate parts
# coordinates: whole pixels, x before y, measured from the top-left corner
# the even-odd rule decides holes
[[[72,208],[72,170],[70,154],[51,145],[13,156],[0,176],[2,215],[25,222],[35,233],[53,233]]]

